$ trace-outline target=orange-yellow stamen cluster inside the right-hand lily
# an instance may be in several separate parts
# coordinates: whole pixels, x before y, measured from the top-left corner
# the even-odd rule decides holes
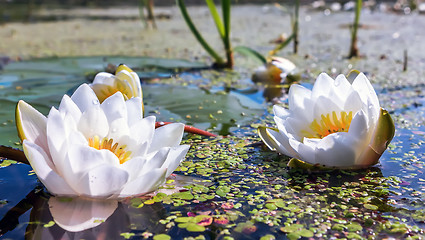
[[[332,133],[348,132],[352,119],[352,111],[349,113],[342,111],[339,116],[335,111],[331,114],[322,114],[319,120],[314,119],[309,130],[302,130],[301,133],[307,138],[324,138]]]

